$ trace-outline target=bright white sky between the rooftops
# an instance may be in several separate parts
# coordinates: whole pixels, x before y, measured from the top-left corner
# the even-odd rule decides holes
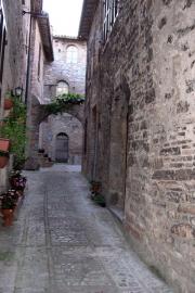
[[[83,0],[43,0],[54,35],[78,36]]]

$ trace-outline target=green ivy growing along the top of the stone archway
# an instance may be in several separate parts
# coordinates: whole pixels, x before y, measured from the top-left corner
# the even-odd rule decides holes
[[[79,105],[84,102],[84,97],[78,93],[63,93],[55,97],[52,103],[46,106],[49,114],[57,115],[68,110],[72,105]]]

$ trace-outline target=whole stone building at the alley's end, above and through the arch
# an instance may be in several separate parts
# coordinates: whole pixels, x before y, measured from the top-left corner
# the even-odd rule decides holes
[[[73,37],[54,36],[53,49],[54,62],[44,64],[43,103],[50,103],[57,94],[63,92],[84,95],[86,41]],[[57,136],[64,133],[68,140],[66,154],[64,149],[64,162],[81,164],[82,106],[80,106],[79,112],[80,114],[77,117],[67,113],[57,116],[51,115],[47,122],[40,124],[39,149],[44,149],[44,153],[52,161],[57,161],[57,153],[61,152],[61,148],[58,146],[58,149],[56,145]]]

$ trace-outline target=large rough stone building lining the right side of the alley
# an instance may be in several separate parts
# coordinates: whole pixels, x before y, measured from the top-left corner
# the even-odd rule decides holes
[[[86,0],[79,31],[83,173],[102,182],[141,257],[182,293],[195,292],[194,17],[190,0]]]

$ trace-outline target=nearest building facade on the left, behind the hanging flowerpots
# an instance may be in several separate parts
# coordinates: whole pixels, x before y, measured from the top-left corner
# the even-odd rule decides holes
[[[6,115],[4,98],[8,91],[15,92],[15,88],[23,88],[25,100],[26,76],[28,71],[28,41],[30,16],[23,15],[23,10],[30,11],[34,1],[0,1],[0,120]],[[10,165],[0,169],[0,191],[8,186]]]

